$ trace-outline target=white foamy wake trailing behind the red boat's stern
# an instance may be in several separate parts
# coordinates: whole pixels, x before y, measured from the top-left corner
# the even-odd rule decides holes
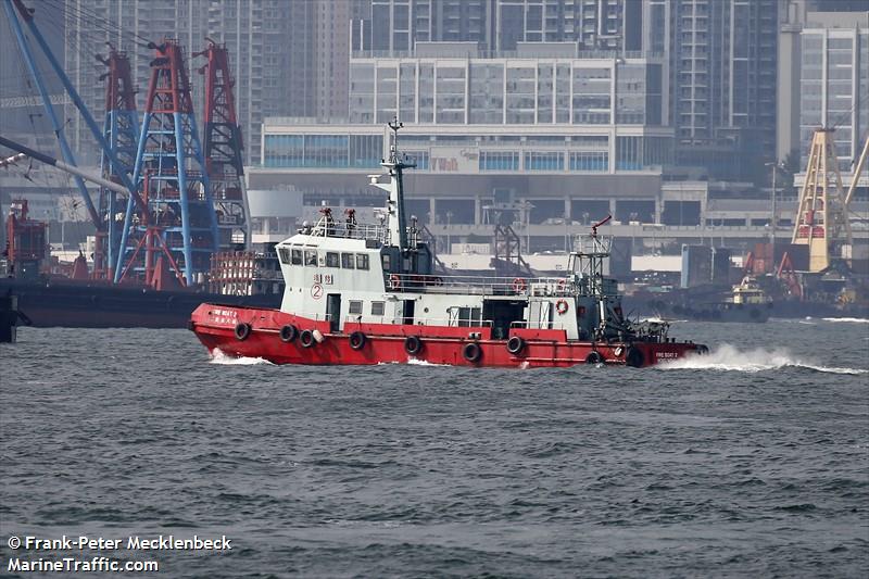
[[[795,357],[786,349],[780,348],[772,351],[763,349],[741,351],[731,344],[722,344],[711,350],[706,355],[692,354],[670,362],[660,363],[656,367],[660,369],[710,369],[757,373],[788,366],[807,368],[828,374],[869,374],[869,369],[842,368],[813,364]]]

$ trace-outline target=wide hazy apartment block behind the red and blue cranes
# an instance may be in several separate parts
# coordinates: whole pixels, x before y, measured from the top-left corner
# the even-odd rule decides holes
[[[152,51],[143,39],[176,38],[186,48],[193,101],[201,115],[201,62],[192,54],[206,38],[225,43],[235,76],[244,162],[261,156],[267,116],[347,116],[350,21],[370,0],[67,0],[65,68],[96,116],[102,112],[103,73],[93,53],[109,41],[133,55],[134,83],[147,89]],[[37,7],[38,8],[38,7]],[[41,10],[48,10],[41,9]],[[135,36],[134,36],[135,35]],[[73,148],[97,159],[90,131],[72,110]],[[88,161],[86,159],[86,161]]]

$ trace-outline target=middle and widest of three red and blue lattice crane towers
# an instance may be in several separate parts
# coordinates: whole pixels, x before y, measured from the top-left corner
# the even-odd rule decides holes
[[[211,269],[217,216],[184,51],[168,38],[150,48],[154,59],[133,176],[146,207],[135,212],[133,200],[127,203],[114,280],[139,277],[154,285],[171,268],[180,285],[192,286]]]

